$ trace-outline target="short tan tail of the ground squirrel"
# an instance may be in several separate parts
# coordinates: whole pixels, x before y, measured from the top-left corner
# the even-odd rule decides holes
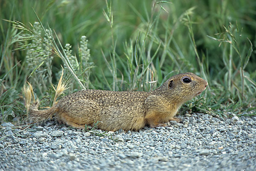
[[[33,103],[29,108],[29,120],[31,122],[40,123],[49,119],[55,113],[56,107],[53,106],[46,110],[38,110],[38,103]]]

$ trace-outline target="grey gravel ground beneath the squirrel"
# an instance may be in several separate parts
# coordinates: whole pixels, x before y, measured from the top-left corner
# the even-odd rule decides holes
[[[3,123],[0,170],[256,170],[256,117],[178,117],[183,122],[166,127],[107,133],[118,142],[55,120],[22,131]]]

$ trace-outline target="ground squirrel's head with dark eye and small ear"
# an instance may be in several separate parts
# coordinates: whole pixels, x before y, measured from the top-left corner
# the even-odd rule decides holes
[[[169,80],[161,86],[161,89],[162,91],[165,91],[166,95],[177,97],[177,100],[179,99],[185,102],[201,94],[207,85],[208,83],[206,80],[191,72],[187,72],[170,77]]]

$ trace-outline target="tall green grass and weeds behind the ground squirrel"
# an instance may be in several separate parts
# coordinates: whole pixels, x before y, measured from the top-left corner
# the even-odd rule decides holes
[[[41,107],[51,106],[61,66],[65,94],[150,91],[190,71],[209,86],[180,113],[255,116],[256,2],[154,2],[2,0],[1,122],[26,118],[26,82]]]

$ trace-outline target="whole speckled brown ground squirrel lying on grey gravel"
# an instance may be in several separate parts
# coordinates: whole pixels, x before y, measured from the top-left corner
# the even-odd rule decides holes
[[[138,131],[145,125],[157,127],[169,120],[187,100],[201,94],[208,85],[193,73],[177,74],[151,92],[81,90],[67,95],[53,107],[39,111],[30,108],[30,119],[42,122],[56,113],[59,122],[84,128],[97,121],[107,131]]]

